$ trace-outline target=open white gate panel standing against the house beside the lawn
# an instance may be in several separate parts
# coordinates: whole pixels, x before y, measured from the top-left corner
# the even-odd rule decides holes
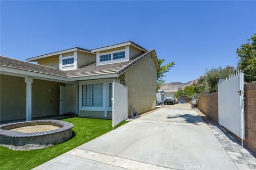
[[[128,118],[127,87],[117,81],[113,82],[112,126]]]

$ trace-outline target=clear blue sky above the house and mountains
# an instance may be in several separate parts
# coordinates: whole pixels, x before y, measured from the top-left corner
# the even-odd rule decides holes
[[[1,55],[26,58],[132,40],[175,62],[166,82],[236,66],[256,32],[255,1],[1,1]]]

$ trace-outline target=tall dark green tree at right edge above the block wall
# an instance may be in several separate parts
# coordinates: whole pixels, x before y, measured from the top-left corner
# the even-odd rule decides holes
[[[256,81],[256,33],[248,39],[248,43],[237,48],[237,69],[244,72],[244,81]]]

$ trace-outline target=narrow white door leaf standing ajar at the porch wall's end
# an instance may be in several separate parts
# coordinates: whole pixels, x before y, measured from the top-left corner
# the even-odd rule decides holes
[[[68,113],[68,87],[60,86],[60,115]]]

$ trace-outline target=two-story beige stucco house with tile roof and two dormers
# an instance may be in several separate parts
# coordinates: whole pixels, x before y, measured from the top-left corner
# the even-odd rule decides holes
[[[159,64],[154,49],[127,41],[27,61],[1,56],[1,121],[67,113],[110,119],[114,80],[127,86],[128,108],[123,109],[129,115],[132,106],[139,113],[155,108]]]

